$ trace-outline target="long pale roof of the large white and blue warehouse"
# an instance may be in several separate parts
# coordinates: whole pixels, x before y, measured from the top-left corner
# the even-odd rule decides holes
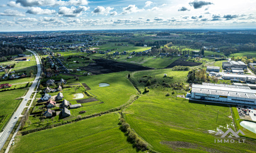
[[[244,92],[232,92],[232,91],[201,89],[201,88],[193,88],[192,92],[256,99],[256,95],[255,94],[244,93]]]

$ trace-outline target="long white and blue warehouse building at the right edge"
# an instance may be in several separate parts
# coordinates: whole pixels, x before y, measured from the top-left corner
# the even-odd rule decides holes
[[[211,83],[193,84],[191,90],[191,98],[194,99],[244,105],[256,105],[255,94],[256,90],[252,90],[248,86]]]

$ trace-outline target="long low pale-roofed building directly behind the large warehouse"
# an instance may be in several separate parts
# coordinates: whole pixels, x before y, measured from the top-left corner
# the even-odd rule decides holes
[[[248,83],[255,83],[256,81],[256,77],[253,75],[223,74],[222,78],[224,80],[241,80]]]

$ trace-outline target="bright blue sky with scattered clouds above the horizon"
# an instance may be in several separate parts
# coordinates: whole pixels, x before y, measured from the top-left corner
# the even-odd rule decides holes
[[[1,0],[0,31],[256,28],[254,0]]]

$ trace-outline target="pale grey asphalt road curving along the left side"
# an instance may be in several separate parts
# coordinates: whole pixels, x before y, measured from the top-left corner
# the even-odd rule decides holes
[[[32,52],[31,50],[28,50],[30,52]],[[20,103],[19,107],[17,108],[16,112],[12,115],[11,119],[9,120],[8,124],[5,126],[5,129],[2,133],[0,133],[0,150],[2,149],[2,147],[4,146],[7,138],[9,137],[10,133],[13,130],[13,127],[15,126],[16,122],[18,121],[19,116],[22,114],[26,104],[28,103],[28,99],[30,98],[31,94],[33,93],[40,75],[41,75],[41,65],[40,65],[40,60],[37,57],[37,55],[32,52],[35,56],[36,59],[36,64],[37,64],[37,74],[35,77],[35,80],[33,82],[33,84],[31,85],[31,87],[29,88],[29,91],[27,92],[27,94],[24,96],[24,99],[22,101],[22,103]],[[26,100],[27,99],[27,100]]]

